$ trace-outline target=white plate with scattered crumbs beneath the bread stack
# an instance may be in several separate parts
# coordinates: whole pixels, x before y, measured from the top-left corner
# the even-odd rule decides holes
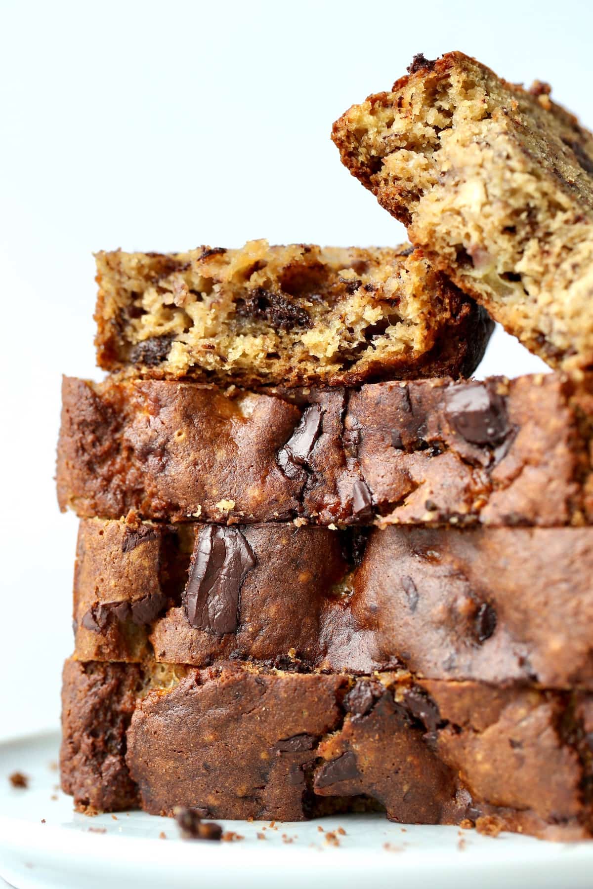
[[[88,818],[73,812],[71,798],[57,787],[58,746],[58,733],[0,744],[0,875],[17,889],[593,885],[593,842],[481,837],[474,830],[403,828],[381,816],[349,815],[274,828],[266,821],[221,822],[244,839],[212,843],[181,840],[174,821],[145,813]],[[12,788],[8,776],[16,771],[28,775],[28,789]],[[336,847],[325,834],[338,827],[346,834]]]

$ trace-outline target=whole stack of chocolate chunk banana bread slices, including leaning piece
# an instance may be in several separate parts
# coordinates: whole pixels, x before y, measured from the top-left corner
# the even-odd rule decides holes
[[[589,837],[593,137],[450,53],[333,139],[411,244],[97,256],[62,786]]]

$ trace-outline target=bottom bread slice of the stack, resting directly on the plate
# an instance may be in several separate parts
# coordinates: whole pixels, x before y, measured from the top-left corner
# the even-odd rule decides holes
[[[74,706],[61,768],[76,805],[88,805],[93,774],[95,803],[104,799],[105,810],[131,804],[126,790],[118,805],[124,773],[111,787],[97,755],[126,695],[112,694],[107,723],[91,728],[80,690],[89,672],[108,671],[120,674],[123,690],[138,669],[67,665],[65,701]],[[405,823],[471,821],[563,840],[591,835],[587,694],[229,662],[201,671],[147,662],[142,678],[118,765],[149,813],[171,815],[181,805],[202,817],[300,821],[379,807]],[[72,750],[82,755],[73,758]]]

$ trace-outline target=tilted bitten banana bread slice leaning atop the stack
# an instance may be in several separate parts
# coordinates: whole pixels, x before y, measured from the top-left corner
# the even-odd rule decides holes
[[[417,57],[333,125],[429,261],[553,367],[593,366],[593,137],[461,52]]]

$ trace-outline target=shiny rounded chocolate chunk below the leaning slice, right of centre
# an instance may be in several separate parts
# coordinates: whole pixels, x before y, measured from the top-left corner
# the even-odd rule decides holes
[[[497,445],[509,434],[505,399],[485,383],[463,383],[445,393],[453,428],[472,445]]]

